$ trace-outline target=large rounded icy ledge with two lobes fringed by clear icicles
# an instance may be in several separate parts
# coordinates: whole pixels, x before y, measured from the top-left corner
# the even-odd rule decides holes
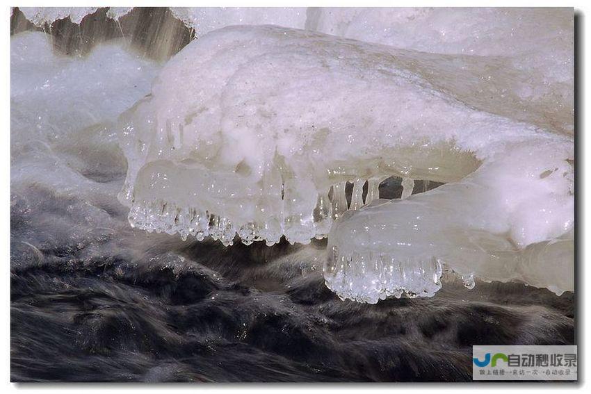
[[[223,28],[121,117],[120,200],[133,226],[225,245],[330,231],[327,286],[362,302],[432,295],[444,268],[572,290],[572,139],[483,99],[528,81],[498,58]],[[373,202],[392,175],[404,199]],[[413,179],[446,185],[408,197]]]

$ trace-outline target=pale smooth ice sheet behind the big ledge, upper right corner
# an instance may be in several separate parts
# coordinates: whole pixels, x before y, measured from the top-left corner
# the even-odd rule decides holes
[[[503,58],[524,75],[518,85],[485,95],[483,109],[573,132],[572,8],[318,8],[309,11],[307,28],[435,54],[486,56],[483,78],[496,83],[512,79],[496,74]]]

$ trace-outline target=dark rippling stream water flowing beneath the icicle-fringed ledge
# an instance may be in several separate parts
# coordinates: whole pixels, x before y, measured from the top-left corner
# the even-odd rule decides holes
[[[321,243],[183,243],[127,229],[116,204],[120,227],[99,228],[82,199],[13,192],[13,381],[469,381],[471,345],[574,343],[572,294],[453,282],[342,302]]]

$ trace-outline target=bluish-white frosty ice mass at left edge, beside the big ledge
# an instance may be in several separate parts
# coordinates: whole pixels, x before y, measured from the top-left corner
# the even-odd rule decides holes
[[[159,69],[120,40],[86,57],[52,47],[42,32],[10,38],[10,209],[34,221],[24,238],[10,238],[11,258],[26,251],[21,267],[38,268],[56,245],[84,250],[81,262],[104,261],[106,244],[91,239],[116,233],[118,251],[127,242],[129,225],[121,227],[125,210],[115,197],[126,161],[112,122],[149,93]],[[10,220],[13,230],[24,229]]]

